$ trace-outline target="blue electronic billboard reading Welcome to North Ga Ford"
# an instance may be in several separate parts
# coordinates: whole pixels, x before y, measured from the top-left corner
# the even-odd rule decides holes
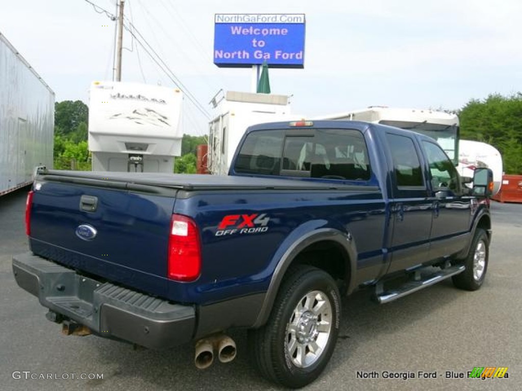
[[[304,67],[304,14],[216,14],[214,64]]]

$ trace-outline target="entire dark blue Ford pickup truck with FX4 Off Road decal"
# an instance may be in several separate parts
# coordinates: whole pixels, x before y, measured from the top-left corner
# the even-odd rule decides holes
[[[341,296],[480,288],[487,174],[468,189],[434,140],[357,121],[253,126],[226,177],[41,168],[13,271],[66,334],[196,341],[205,368],[247,328],[260,372],[301,387],[334,350]]]

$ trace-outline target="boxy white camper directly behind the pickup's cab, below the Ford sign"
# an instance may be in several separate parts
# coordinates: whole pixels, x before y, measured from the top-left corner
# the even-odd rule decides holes
[[[255,124],[298,119],[290,113],[289,96],[251,92],[218,92],[212,99],[216,115],[209,123],[208,170],[227,175],[246,128]]]

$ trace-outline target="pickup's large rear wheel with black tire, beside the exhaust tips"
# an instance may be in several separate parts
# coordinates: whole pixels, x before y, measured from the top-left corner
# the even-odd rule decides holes
[[[292,267],[267,323],[248,332],[255,365],[265,377],[286,387],[313,382],[334,352],[339,321],[334,279],[312,266]]]

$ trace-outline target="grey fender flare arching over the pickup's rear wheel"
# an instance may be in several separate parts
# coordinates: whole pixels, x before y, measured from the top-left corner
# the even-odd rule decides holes
[[[355,243],[353,242],[351,235],[344,234],[334,228],[316,229],[303,236],[300,236],[298,240],[293,241],[280,257],[274,273],[272,273],[270,285],[268,286],[268,290],[266,292],[262,307],[259,310],[256,322],[252,326],[253,328],[263,326],[267,322],[272,310],[272,306],[274,306],[274,302],[283,280],[283,276],[287,272],[289,266],[292,264],[296,256],[298,256],[305,248],[309,247],[313,243],[324,240],[337,242],[346,252],[349,262],[349,265],[347,266],[351,271],[349,273],[349,281],[346,282],[348,284],[348,291],[350,291],[350,288],[353,287],[355,282],[355,270],[357,266],[357,250],[355,249]],[[275,258],[278,256],[278,252],[276,252]],[[346,279],[347,276],[345,276],[345,280]]]

